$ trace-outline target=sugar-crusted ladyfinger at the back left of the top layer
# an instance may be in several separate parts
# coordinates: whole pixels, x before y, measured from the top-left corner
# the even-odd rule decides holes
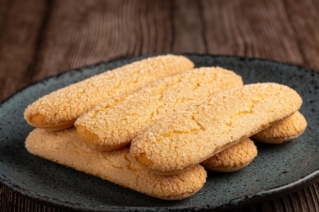
[[[73,126],[79,115],[101,102],[192,68],[194,63],[179,55],[142,59],[45,95],[25,109],[24,118],[37,128],[66,129]]]

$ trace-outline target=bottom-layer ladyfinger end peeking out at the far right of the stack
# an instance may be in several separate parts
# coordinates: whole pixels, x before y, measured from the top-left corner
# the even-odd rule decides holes
[[[297,111],[275,125],[252,135],[251,138],[262,143],[282,143],[297,138],[305,131],[306,127],[306,118]]]

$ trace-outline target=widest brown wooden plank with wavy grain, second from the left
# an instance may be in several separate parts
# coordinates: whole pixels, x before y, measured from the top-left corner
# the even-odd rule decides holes
[[[170,51],[169,7],[167,1],[55,1],[33,80],[110,58]]]

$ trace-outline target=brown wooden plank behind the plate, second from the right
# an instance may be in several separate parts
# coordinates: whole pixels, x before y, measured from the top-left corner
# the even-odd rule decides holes
[[[208,52],[301,64],[294,28],[282,1],[202,1]],[[280,35],[280,36],[278,36]]]

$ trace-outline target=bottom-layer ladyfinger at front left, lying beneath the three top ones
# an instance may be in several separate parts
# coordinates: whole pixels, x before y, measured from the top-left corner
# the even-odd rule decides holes
[[[156,175],[132,160],[128,147],[107,152],[88,148],[77,137],[74,128],[63,131],[35,129],[26,138],[25,147],[36,156],[165,200],[190,197],[202,188],[207,176],[201,165],[177,175]]]

